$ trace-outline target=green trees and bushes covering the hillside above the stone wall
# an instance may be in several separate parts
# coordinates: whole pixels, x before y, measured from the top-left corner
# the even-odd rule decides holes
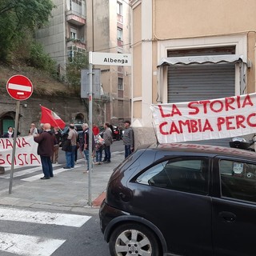
[[[88,68],[88,54],[74,50],[74,56],[66,65],[66,76],[60,78],[57,63],[34,38],[38,29],[47,26],[54,8],[51,0],[0,0],[0,63],[5,66],[2,73],[10,66],[11,70],[20,74],[34,79],[38,77],[37,85],[42,85],[43,80],[51,77],[65,83],[69,93],[80,94],[81,69]],[[53,85],[52,80],[50,84]],[[50,89],[53,88],[38,86],[37,89],[42,94],[52,94]]]

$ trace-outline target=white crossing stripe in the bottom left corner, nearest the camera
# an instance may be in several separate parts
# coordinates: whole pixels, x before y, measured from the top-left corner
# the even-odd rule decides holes
[[[50,256],[65,241],[0,232],[0,250],[24,256]]]

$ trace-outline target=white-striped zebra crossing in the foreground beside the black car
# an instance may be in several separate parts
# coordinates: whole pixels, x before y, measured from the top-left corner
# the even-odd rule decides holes
[[[63,226],[78,229],[90,218],[90,216],[78,214],[0,207],[1,223],[4,221],[18,223],[19,225],[20,223],[24,223],[24,225],[30,223],[37,226],[35,230],[40,230],[42,225],[49,226],[49,229],[52,226],[55,226],[55,229],[56,227],[61,229]],[[29,230],[26,229],[19,229],[21,232],[9,233],[2,230],[2,226],[0,228],[0,255],[5,252],[22,256],[50,256],[66,242],[66,239],[63,238],[52,238],[52,234],[50,237],[49,234],[45,236],[43,234],[35,235],[34,232],[32,232],[33,234],[23,234],[23,232],[29,233]]]

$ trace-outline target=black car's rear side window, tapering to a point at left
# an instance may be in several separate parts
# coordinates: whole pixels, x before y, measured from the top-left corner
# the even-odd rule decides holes
[[[136,182],[194,194],[208,193],[207,158],[178,158],[160,162],[141,174]]]

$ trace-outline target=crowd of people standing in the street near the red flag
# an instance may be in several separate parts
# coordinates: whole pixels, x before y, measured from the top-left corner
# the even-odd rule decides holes
[[[134,150],[134,131],[130,126],[130,121],[124,122],[124,132],[122,140],[125,146],[125,158],[127,158]],[[19,133],[18,133],[19,134]],[[41,124],[37,128],[34,123],[31,123],[28,135],[34,136],[34,142],[38,143],[38,155],[42,162],[42,172],[44,176],[41,179],[50,179],[54,177],[52,164],[58,163],[58,152],[61,148],[65,151],[66,166],[64,169],[74,168],[78,158],[78,151],[86,159],[86,170],[90,170],[89,156],[91,154],[91,164],[101,165],[102,163],[111,162],[110,146],[113,143],[113,131],[109,122],[104,123],[104,130],[100,130],[96,124],[92,127],[92,138],[90,140],[90,131],[87,123],[82,124],[82,132],[76,130],[74,124],[66,126],[64,130],[54,126],[51,130],[50,123]],[[4,138],[14,138],[14,128],[8,127]],[[90,141],[91,152],[90,152]],[[104,156],[103,156],[104,152]]]

